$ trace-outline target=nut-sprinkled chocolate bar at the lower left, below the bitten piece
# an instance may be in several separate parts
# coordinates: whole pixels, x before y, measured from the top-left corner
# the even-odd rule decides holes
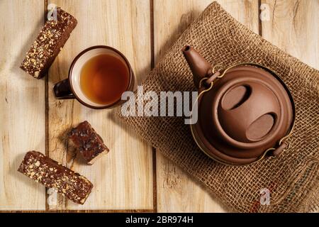
[[[55,189],[77,204],[84,204],[93,188],[93,184],[86,177],[37,151],[26,153],[18,172],[45,187]]]

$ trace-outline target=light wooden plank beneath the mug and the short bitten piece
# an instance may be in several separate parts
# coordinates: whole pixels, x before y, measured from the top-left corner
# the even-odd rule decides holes
[[[77,101],[58,101],[51,92],[53,84],[67,78],[72,59],[92,45],[118,48],[128,57],[140,82],[150,70],[149,1],[52,2],[74,15],[78,24],[49,72],[49,153],[89,178],[94,189],[84,206],[57,196],[57,204],[53,202],[49,207],[152,209],[152,148],[116,118],[115,109],[88,109]],[[92,166],[83,164],[78,157],[73,160],[65,140],[69,128],[84,120],[91,123],[110,148],[108,155]]]

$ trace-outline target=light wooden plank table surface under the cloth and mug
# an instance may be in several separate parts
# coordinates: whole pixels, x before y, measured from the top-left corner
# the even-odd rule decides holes
[[[220,0],[225,10],[279,48],[319,68],[318,0]],[[18,67],[43,26],[47,5],[78,20],[45,79]],[[67,77],[72,59],[91,45],[124,53],[142,82],[169,46],[211,0],[0,0],[0,210],[2,211],[228,211],[179,167],[115,116],[74,100],[57,100],[52,86]],[[262,14],[259,17],[259,14]],[[110,153],[84,165],[67,148],[65,133],[87,120]],[[16,170],[28,150],[38,150],[81,173],[94,190],[81,206]]]

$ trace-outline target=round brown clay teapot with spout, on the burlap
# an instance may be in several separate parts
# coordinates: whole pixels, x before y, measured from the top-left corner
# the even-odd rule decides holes
[[[206,155],[223,164],[247,165],[287,148],[295,108],[273,70],[255,63],[221,69],[190,46],[183,53],[199,92],[191,133]]]

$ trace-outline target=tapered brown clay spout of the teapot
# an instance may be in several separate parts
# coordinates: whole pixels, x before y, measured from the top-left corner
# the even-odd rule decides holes
[[[194,84],[198,88],[201,79],[211,75],[212,66],[191,46],[186,45],[182,51],[191,68],[191,72],[193,72]]]

